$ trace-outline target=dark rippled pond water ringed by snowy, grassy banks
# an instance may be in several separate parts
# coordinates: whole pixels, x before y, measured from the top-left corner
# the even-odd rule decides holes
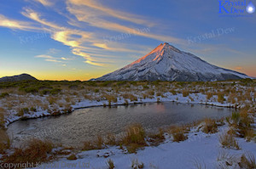
[[[7,132],[13,134],[14,144],[31,138],[47,138],[54,143],[76,146],[97,135],[124,132],[125,127],[132,123],[141,123],[153,130],[206,117],[221,118],[230,115],[231,111],[228,108],[173,102],[95,107],[75,110],[69,115],[16,121],[9,125]]]

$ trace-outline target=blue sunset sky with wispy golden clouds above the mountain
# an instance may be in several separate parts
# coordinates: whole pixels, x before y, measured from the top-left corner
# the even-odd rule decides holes
[[[163,42],[255,77],[256,0],[220,1],[0,0],[0,77],[85,81]]]

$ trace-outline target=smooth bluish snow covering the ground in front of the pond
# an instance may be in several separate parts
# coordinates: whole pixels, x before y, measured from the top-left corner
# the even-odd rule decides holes
[[[246,142],[242,138],[236,138],[241,150],[223,149],[218,141],[219,133],[224,132],[228,127],[219,127],[219,132],[206,134],[204,132],[189,132],[189,138],[183,142],[172,142],[172,138],[166,135],[166,142],[157,147],[145,147],[138,150],[137,154],[125,154],[119,147],[108,149],[90,150],[79,153],[76,161],[67,161],[62,158],[37,168],[108,168],[107,161],[112,159],[115,168],[131,168],[132,161],[137,160],[144,164],[145,169],[153,168],[220,168],[221,165],[230,166],[227,168],[239,168],[238,162],[242,154],[248,152],[256,156],[256,146],[253,142]],[[108,156],[105,158],[104,155]],[[219,157],[219,155],[224,155]],[[233,158],[230,158],[234,156]],[[226,158],[226,159],[224,159]],[[83,166],[83,167],[82,167]],[[198,166],[198,167],[197,167]]]

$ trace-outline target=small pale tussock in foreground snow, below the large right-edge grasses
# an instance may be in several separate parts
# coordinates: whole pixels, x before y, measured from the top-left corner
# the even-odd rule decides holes
[[[236,139],[234,138],[232,133],[226,132],[220,134],[219,143],[222,144],[224,148],[228,149],[240,149]]]

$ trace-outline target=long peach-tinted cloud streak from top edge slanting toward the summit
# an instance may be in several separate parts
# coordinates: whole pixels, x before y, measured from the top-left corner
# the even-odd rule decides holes
[[[153,21],[137,19],[140,16],[127,14],[117,10],[103,7],[102,4],[96,3],[96,1],[82,1],[82,0],[67,0],[67,10],[73,14],[79,22],[88,23],[91,26],[99,27],[105,30],[110,31],[119,31],[123,33],[131,32],[134,35],[140,37],[148,37],[163,42],[175,42],[178,44],[183,44],[185,41],[177,37],[156,35],[150,32],[136,31],[134,28],[120,25],[118,22],[110,22],[106,20],[106,16],[112,16],[115,19],[119,20],[128,20],[132,23],[138,25],[148,25],[149,27],[153,26]],[[79,25],[79,24],[77,24]]]

